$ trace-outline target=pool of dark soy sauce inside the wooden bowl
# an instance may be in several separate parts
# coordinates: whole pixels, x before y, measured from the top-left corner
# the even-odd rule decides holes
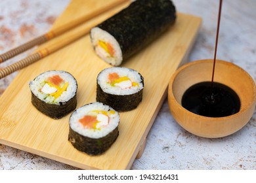
[[[194,84],[182,96],[182,107],[190,112],[207,117],[224,117],[240,110],[236,92],[219,82]]]

